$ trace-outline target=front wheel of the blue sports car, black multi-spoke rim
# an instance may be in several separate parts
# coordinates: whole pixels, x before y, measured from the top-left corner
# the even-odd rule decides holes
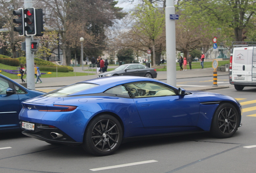
[[[239,115],[230,103],[221,103],[213,115],[211,135],[219,138],[229,138],[235,134],[239,127]]]

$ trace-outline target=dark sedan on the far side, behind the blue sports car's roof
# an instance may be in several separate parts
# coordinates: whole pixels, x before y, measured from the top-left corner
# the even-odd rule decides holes
[[[105,76],[142,76],[148,78],[156,78],[157,70],[155,68],[149,68],[142,64],[124,64],[119,66],[115,70],[101,73],[98,77]]]

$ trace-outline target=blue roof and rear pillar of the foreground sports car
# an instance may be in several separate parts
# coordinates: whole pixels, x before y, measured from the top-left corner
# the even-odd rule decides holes
[[[98,84],[98,86],[71,94],[69,96],[102,93],[102,92],[106,91],[107,89],[118,86],[120,84],[125,84],[125,83],[129,83],[129,82],[139,82],[139,81],[152,81],[152,82],[160,82],[160,83],[165,84],[164,82],[161,82],[161,81],[153,79],[153,78],[146,78],[146,77],[140,77],[140,76],[102,77],[102,78],[95,78],[95,79],[78,82],[78,83]]]

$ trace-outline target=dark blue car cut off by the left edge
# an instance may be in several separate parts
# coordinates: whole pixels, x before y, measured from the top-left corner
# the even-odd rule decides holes
[[[19,113],[21,102],[45,93],[29,90],[0,74],[0,133],[21,131]]]

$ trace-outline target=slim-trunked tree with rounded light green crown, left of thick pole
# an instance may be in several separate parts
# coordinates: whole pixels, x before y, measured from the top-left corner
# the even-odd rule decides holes
[[[153,61],[151,62],[154,65],[156,64],[155,40],[162,34],[165,24],[163,10],[158,6],[154,7],[149,0],[144,0],[143,4],[136,6],[132,16],[136,21],[134,25],[136,30],[151,40],[153,49]]]

